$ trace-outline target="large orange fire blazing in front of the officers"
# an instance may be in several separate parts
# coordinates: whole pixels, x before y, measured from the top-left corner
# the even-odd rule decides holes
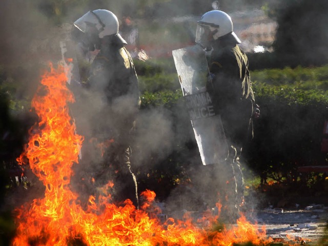
[[[66,86],[64,68],[50,66],[41,80],[32,108],[39,120],[30,130],[25,152],[17,158],[43,182],[43,198],[17,209],[17,234],[12,244],[24,245],[233,245],[251,242],[267,245],[265,230],[242,216],[230,229],[213,230],[216,217],[195,221],[162,222],[153,201],[155,193],[142,192],[144,203],[137,210],[130,200],[124,206],[111,203],[110,194],[90,196],[82,208],[78,194],[70,189],[72,165],[78,162],[83,137],[76,134],[68,103],[74,102]],[[108,187],[115,185],[108,183]],[[106,190],[106,189],[105,189]],[[207,223],[206,223],[207,222]],[[261,231],[261,232],[260,232]]]

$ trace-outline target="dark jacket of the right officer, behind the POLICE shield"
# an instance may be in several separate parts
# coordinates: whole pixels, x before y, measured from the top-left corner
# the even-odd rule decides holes
[[[253,134],[251,116],[255,98],[248,58],[229,40],[221,39],[213,48],[207,89],[212,91],[215,110],[221,115],[228,141],[235,147],[242,147],[248,134]]]

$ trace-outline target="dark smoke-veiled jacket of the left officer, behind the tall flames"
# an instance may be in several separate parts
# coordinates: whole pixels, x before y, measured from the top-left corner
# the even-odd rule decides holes
[[[122,44],[103,45],[93,60],[87,87],[99,105],[95,131],[125,141],[140,106],[138,78],[132,58]],[[97,129],[96,129],[97,128]]]

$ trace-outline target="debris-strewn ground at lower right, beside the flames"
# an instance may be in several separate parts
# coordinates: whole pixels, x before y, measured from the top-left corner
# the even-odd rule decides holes
[[[282,184],[257,188],[246,197],[242,210],[250,222],[264,225],[268,237],[277,242],[322,245],[321,240],[328,233],[328,193],[325,189]],[[328,241],[326,243],[324,245],[328,245]]]

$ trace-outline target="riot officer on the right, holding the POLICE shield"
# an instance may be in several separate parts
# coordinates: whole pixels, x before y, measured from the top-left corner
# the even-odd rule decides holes
[[[207,91],[212,95],[216,114],[222,119],[229,145],[224,167],[226,175],[219,177],[220,188],[226,186],[227,199],[223,208],[230,216],[238,216],[243,202],[243,175],[239,157],[245,142],[253,135],[252,114],[255,103],[247,55],[239,48],[240,39],[233,31],[231,17],[219,10],[202,15],[197,22],[195,42],[207,53],[209,76]],[[219,172],[222,173],[222,170]],[[229,203],[224,202],[229,199]],[[230,207],[230,208],[229,208]]]

